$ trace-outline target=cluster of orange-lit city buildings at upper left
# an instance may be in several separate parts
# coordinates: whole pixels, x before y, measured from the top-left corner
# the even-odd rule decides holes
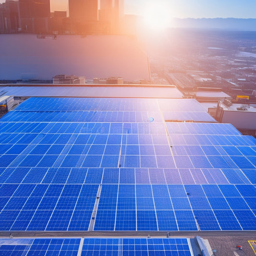
[[[6,0],[0,4],[0,33],[117,35],[133,33],[135,15],[124,15],[123,0],[69,0],[67,11],[50,12],[50,0]],[[128,25],[127,25],[128,24]],[[40,36],[41,35],[41,36]]]

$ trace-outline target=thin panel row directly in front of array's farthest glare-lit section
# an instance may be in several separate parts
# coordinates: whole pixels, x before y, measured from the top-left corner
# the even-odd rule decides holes
[[[19,112],[11,113],[10,116],[4,116],[5,122],[0,122],[1,133],[166,134],[163,123],[57,123],[21,122],[20,120],[13,122],[12,116],[19,116]],[[3,121],[3,118],[0,121]],[[231,124],[167,122],[166,126],[169,134],[242,135]]]

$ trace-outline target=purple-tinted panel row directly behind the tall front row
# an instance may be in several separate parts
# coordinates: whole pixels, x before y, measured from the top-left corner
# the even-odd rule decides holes
[[[255,169],[0,168],[0,183],[256,184]]]

